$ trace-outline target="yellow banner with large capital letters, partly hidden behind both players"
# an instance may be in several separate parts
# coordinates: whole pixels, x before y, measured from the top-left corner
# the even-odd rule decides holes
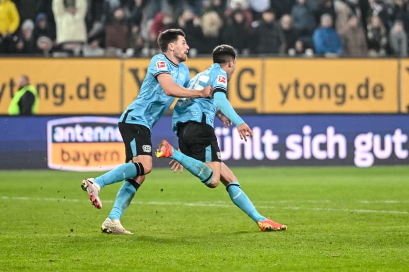
[[[138,95],[146,76],[150,59],[124,60],[124,102],[125,109]],[[205,70],[213,63],[211,58],[189,59],[186,65],[190,77]],[[236,109],[261,110],[261,59],[238,59],[233,79],[228,84],[228,96]]]

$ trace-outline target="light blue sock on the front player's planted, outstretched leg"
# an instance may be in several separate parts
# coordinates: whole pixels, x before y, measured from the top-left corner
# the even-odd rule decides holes
[[[253,219],[256,223],[260,220],[265,220],[254,207],[253,203],[248,199],[247,195],[243,192],[238,181],[230,183],[226,190],[229,192],[230,199],[239,207],[243,212],[245,212],[249,217]]]

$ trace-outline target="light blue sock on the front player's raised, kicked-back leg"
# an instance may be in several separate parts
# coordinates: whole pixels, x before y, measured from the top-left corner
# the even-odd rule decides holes
[[[172,152],[173,155],[170,156],[170,158],[183,165],[183,167],[188,169],[192,175],[199,178],[202,183],[208,185],[212,182],[213,171],[209,166],[199,160],[186,156],[185,154],[175,150],[173,147]]]

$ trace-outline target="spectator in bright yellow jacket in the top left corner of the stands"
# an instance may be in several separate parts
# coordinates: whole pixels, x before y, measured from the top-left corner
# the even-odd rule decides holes
[[[6,37],[16,32],[20,15],[11,0],[0,0],[0,36]]]

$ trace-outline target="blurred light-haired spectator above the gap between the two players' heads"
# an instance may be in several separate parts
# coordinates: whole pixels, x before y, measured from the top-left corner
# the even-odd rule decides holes
[[[223,27],[223,20],[215,11],[208,11],[202,16],[201,30],[203,32],[204,41],[198,53],[211,54],[213,48],[220,44],[220,30]],[[189,37],[187,37],[189,39]],[[189,41],[188,41],[189,44]]]

